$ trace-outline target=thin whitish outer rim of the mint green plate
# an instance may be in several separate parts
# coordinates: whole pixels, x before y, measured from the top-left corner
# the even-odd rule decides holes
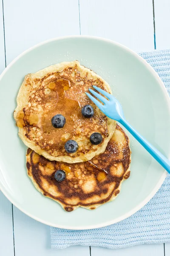
[[[3,72],[0,75],[0,81],[3,78],[3,76],[5,75],[5,73],[8,71],[8,69],[18,60],[20,59],[23,55],[26,55],[28,52],[30,52],[33,49],[36,49],[44,44],[48,44],[52,41],[58,41],[58,40],[63,40],[63,39],[70,39],[70,38],[88,38],[88,39],[96,39],[98,41],[105,41],[111,44],[114,44],[122,49],[125,49],[127,52],[129,52],[130,54],[132,54],[134,57],[136,57],[139,61],[141,61],[145,67],[150,71],[150,73],[152,73],[152,75],[155,77],[155,79],[157,80],[157,82],[159,83],[161,90],[164,93],[164,98],[166,99],[167,102],[167,107],[168,107],[168,111],[170,113],[170,97],[167,93],[167,90],[164,86],[164,83],[161,81],[159,75],[156,73],[156,71],[153,69],[153,67],[150,66],[150,64],[147,63],[147,61],[145,61],[141,56],[139,56],[136,52],[134,52],[133,50],[129,49],[128,47],[124,46],[123,44],[120,44],[116,41],[110,40],[110,39],[106,39],[106,38],[102,38],[102,37],[97,37],[97,36],[88,36],[88,35],[68,35],[68,36],[62,36],[62,37],[57,37],[57,38],[52,38],[52,39],[48,39],[45,41],[42,41],[28,49],[26,49],[24,52],[20,53],[20,55],[18,55],[16,58],[14,58],[13,61],[10,62],[10,64],[7,65],[7,67],[3,70]],[[170,152],[168,154],[168,159],[170,158]],[[39,221],[43,224],[46,224],[48,226],[52,226],[52,227],[58,227],[58,228],[62,228],[62,229],[68,229],[68,230],[90,230],[90,229],[95,229],[95,228],[100,228],[100,227],[106,227],[109,226],[111,224],[115,224],[119,221],[122,221],[128,217],[130,217],[131,215],[133,215],[134,213],[136,213],[139,209],[141,209],[142,207],[144,207],[145,204],[148,203],[148,201],[150,201],[151,198],[153,198],[153,196],[156,194],[156,192],[159,190],[159,188],[161,187],[162,183],[164,182],[165,178],[167,176],[167,171],[164,170],[164,172],[161,175],[161,178],[159,179],[159,182],[156,184],[156,186],[154,187],[154,189],[152,190],[152,192],[150,192],[150,194],[147,196],[147,198],[145,198],[140,204],[138,204],[136,207],[134,207],[132,210],[130,210],[129,212],[125,213],[124,215],[122,215],[119,218],[114,219],[113,221],[106,221],[103,222],[101,224],[95,224],[95,225],[89,225],[86,227],[83,226],[79,226],[79,227],[71,227],[71,226],[67,226],[67,225],[56,225],[54,223],[50,223],[50,221],[44,221],[41,218],[37,218],[36,216],[29,214],[27,211],[25,211],[22,207],[17,206],[17,203],[14,202],[14,200],[12,198],[10,198],[10,195],[8,196],[8,192],[6,192],[5,186],[3,187],[3,185],[0,182],[0,190],[1,192],[3,192],[3,195],[6,196],[6,198],[18,209],[20,209],[20,211],[22,211],[23,213],[25,213],[26,215],[28,215],[29,217],[33,218],[36,221]]]

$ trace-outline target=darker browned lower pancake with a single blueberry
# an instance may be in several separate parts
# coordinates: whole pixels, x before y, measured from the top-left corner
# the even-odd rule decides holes
[[[113,201],[122,181],[130,176],[130,154],[129,139],[116,125],[105,152],[90,161],[73,164],[49,161],[28,148],[26,166],[34,186],[71,212],[78,207],[96,209]],[[58,169],[66,173],[61,182],[54,178]]]

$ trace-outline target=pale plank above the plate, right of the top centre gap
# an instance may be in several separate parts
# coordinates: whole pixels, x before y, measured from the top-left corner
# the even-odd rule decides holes
[[[82,35],[109,38],[133,50],[154,49],[152,0],[80,0]]]

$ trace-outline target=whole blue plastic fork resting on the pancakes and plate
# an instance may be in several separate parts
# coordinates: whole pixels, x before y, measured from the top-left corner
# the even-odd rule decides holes
[[[153,145],[151,145],[147,140],[142,137],[125,119],[122,106],[120,105],[119,101],[110,93],[105,92],[104,90],[93,86],[99,93],[102,93],[106,98],[105,99],[99,93],[96,93],[94,90],[89,89],[89,91],[102,103],[100,103],[97,99],[95,99],[91,94],[86,93],[87,96],[96,104],[96,106],[108,117],[114,119],[121,123],[127,131],[129,131],[136,140],[141,143],[141,145],[164,167],[164,169],[170,173],[170,161],[164,157],[161,152],[159,152]]]

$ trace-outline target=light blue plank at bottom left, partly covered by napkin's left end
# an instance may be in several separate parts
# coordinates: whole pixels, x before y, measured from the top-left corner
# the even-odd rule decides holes
[[[90,256],[88,246],[51,250],[50,227],[14,207],[15,256]]]

